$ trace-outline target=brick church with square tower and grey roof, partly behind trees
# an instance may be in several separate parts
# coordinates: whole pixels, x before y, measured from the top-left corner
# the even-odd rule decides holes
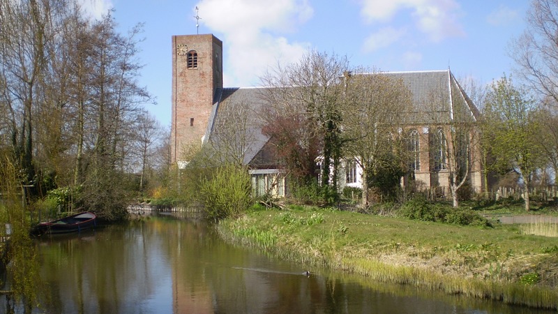
[[[458,116],[476,121],[478,110],[450,70],[384,74],[403,82],[412,93],[412,109],[403,114],[407,126],[403,132],[414,156],[409,167],[415,183],[421,188],[446,188],[451,124],[459,122]],[[285,178],[267,147],[269,137],[262,134],[263,91],[264,87],[223,88],[223,43],[215,36],[173,36],[172,161],[183,165],[190,147],[211,138],[227,154],[250,166],[256,193],[284,195]],[[469,186],[479,192],[482,180],[480,165],[474,162],[477,156],[473,147],[465,160],[472,163]],[[341,172],[345,175],[340,176],[340,186],[361,186],[356,163],[347,160]]]

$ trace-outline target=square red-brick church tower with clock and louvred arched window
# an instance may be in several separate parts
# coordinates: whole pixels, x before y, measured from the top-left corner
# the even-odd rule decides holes
[[[172,36],[171,159],[201,144],[213,97],[223,88],[223,42],[211,34]]]

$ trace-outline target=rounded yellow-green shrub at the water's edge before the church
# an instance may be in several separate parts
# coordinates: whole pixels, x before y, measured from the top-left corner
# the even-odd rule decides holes
[[[215,168],[199,188],[206,216],[215,222],[243,214],[252,204],[251,194],[250,174],[235,165]]]

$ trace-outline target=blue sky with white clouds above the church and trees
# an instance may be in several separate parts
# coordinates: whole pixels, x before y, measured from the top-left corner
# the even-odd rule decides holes
[[[93,17],[113,9],[119,31],[144,23],[141,86],[170,126],[173,35],[223,40],[225,87],[259,86],[270,67],[309,50],[382,71],[451,69],[481,84],[513,73],[511,42],[529,0],[81,0]],[[195,10],[198,8],[198,10]],[[195,18],[199,17],[199,20]],[[199,27],[196,27],[199,21]]]

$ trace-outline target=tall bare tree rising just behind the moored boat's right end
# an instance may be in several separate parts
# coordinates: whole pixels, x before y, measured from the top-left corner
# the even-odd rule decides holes
[[[89,193],[82,196],[88,207],[108,219],[119,219],[124,212],[127,187],[122,174],[131,160],[130,136],[141,114],[140,104],[150,100],[137,84],[141,65],[136,59],[135,38],[140,30],[135,27],[128,36],[122,36],[109,14],[94,22],[89,31],[91,72],[86,80],[89,98],[84,116],[84,150],[89,155],[89,165],[83,184]]]

